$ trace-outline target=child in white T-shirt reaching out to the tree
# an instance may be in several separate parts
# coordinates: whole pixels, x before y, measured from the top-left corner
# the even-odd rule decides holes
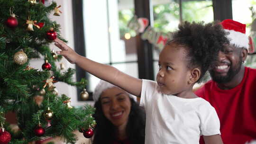
[[[220,25],[184,22],[159,55],[155,82],[91,61],[55,39],[62,50],[57,53],[70,63],[141,97],[140,106],[146,110],[145,144],[199,144],[200,135],[206,144],[222,144],[215,109],[198,98],[192,87],[202,80],[225,43],[229,41]]]

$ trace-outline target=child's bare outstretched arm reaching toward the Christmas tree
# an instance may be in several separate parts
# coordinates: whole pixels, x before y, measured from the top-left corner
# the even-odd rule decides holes
[[[141,79],[129,76],[128,74],[125,74],[124,72],[121,72],[110,65],[97,63],[83,57],[75,53],[72,48],[58,38],[56,38],[54,42],[55,45],[62,50],[58,51],[57,53],[63,55],[70,63],[75,63],[86,72],[89,72],[102,80],[117,85],[129,93],[140,97],[142,88]]]

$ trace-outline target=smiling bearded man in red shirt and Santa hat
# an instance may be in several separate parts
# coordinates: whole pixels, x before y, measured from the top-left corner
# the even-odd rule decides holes
[[[219,52],[208,81],[195,93],[216,109],[224,144],[252,143],[256,139],[256,69],[243,65],[248,52],[246,25],[226,19],[220,23],[229,45]]]

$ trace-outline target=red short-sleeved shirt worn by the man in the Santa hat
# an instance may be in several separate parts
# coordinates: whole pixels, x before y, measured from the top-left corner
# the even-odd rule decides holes
[[[243,80],[233,89],[221,90],[208,81],[195,93],[216,109],[224,144],[256,139],[256,69],[245,67]]]

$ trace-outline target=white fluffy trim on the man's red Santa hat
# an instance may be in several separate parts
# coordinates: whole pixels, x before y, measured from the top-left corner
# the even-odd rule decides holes
[[[246,49],[249,48],[249,38],[245,34],[229,29],[224,30],[229,32],[227,37],[230,40],[230,44],[234,44],[238,47],[245,47]]]

